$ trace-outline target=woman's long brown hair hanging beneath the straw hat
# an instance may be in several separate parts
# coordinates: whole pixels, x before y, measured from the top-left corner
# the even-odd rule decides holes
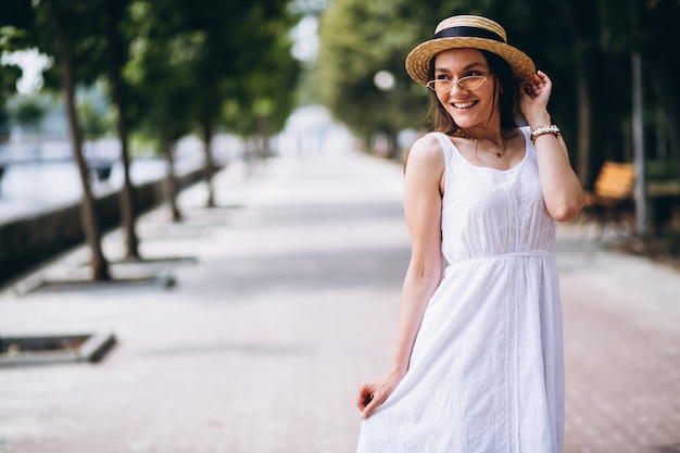
[[[511,130],[517,127],[515,123],[515,111],[517,106],[517,84],[513,76],[513,71],[509,64],[495,53],[481,50],[484,55],[487,64],[491,70],[491,73],[495,76],[499,84],[501,84],[501,90],[494,91],[493,103],[495,104],[495,93],[499,92],[499,108],[501,111],[501,129]],[[428,80],[435,79],[435,59],[430,61],[430,70],[428,74]],[[437,93],[431,91],[430,95],[430,108],[429,115],[432,117],[431,130],[441,131],[444,134],[453,134],[457,130],[458,126],[455,124],[451,115],[446,112],[442,103],[437,98]],[[491,121],[491,117],[489,117]]]

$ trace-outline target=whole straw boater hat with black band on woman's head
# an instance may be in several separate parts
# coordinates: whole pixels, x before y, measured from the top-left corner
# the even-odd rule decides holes
[[[406,72],[415,81],[426,85],[432,56],[449,49],[481,49],[503,58],[513,70],[517,83],[536,74],[533,61],[522,51],[508,46],[505,29],[490,18],[456,15],[444,18],[435,37],[423,42],[406,56]]]

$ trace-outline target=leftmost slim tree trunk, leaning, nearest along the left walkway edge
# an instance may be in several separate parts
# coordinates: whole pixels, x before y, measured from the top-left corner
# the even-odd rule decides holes
[[[49,15],[54,28],[54,37],[56,40],[56,48],[59,58],[61,59],[61,73],[64,83],[64,90],[66,91],[66,114],[68,117],[68,129],[71,134],[71,142],[73,146],[73,154],[78,165],[78,173],[80,175],[80,183],[83,184],[83,228],[85,230],[85,237],[87,243],[90,247],[92,256],[90,265],[92,269],[92,278],[96,280],[109,280],[111,275],[109,273],[109,262],[104,257],[101,248],[101,234],[97,222],[97,214],[95,211],[95,198],[90,188],[90,180],[87,164],[83,156],[83,138],[80,136],[80,129],[78,127],[78,118],[75,108],[75,80],[73,75],[73,67],[71,62],[71,49],[68,47],[66,36],[64,35],[63,22],[59,14],[58,7],[54,4],[54,0],[49,2]]]

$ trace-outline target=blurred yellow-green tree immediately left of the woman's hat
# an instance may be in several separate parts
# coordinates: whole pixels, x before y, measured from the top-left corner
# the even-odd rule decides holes
[[[322,15],[318,92],[356,134],[393,137],[403,128],[425,126],[423,115],[413,112],[425,111],[427,93],[404,71],[406,53],[424,36],[425,21],[418,20],[424,10],[403,0],[338,0]],[[393,90],[376,87],[374,77],[381,71],[393,74]]]

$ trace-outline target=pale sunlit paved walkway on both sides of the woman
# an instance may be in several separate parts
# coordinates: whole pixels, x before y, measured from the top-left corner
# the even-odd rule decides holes
[[[216,187],[223,207],[202,209],[197,187],[185,223],[159,210],[139,224],[146,257],[198,259],[171,290],[0,293],[4,336],[119,341],[96,365],[0,369],[1,453],[353,451],[355,387],[388,365],[408,259],[401,168],[288,156],[232,165]],[[565,452],[680,452],[680,274],[569,227],[559,248]]]

